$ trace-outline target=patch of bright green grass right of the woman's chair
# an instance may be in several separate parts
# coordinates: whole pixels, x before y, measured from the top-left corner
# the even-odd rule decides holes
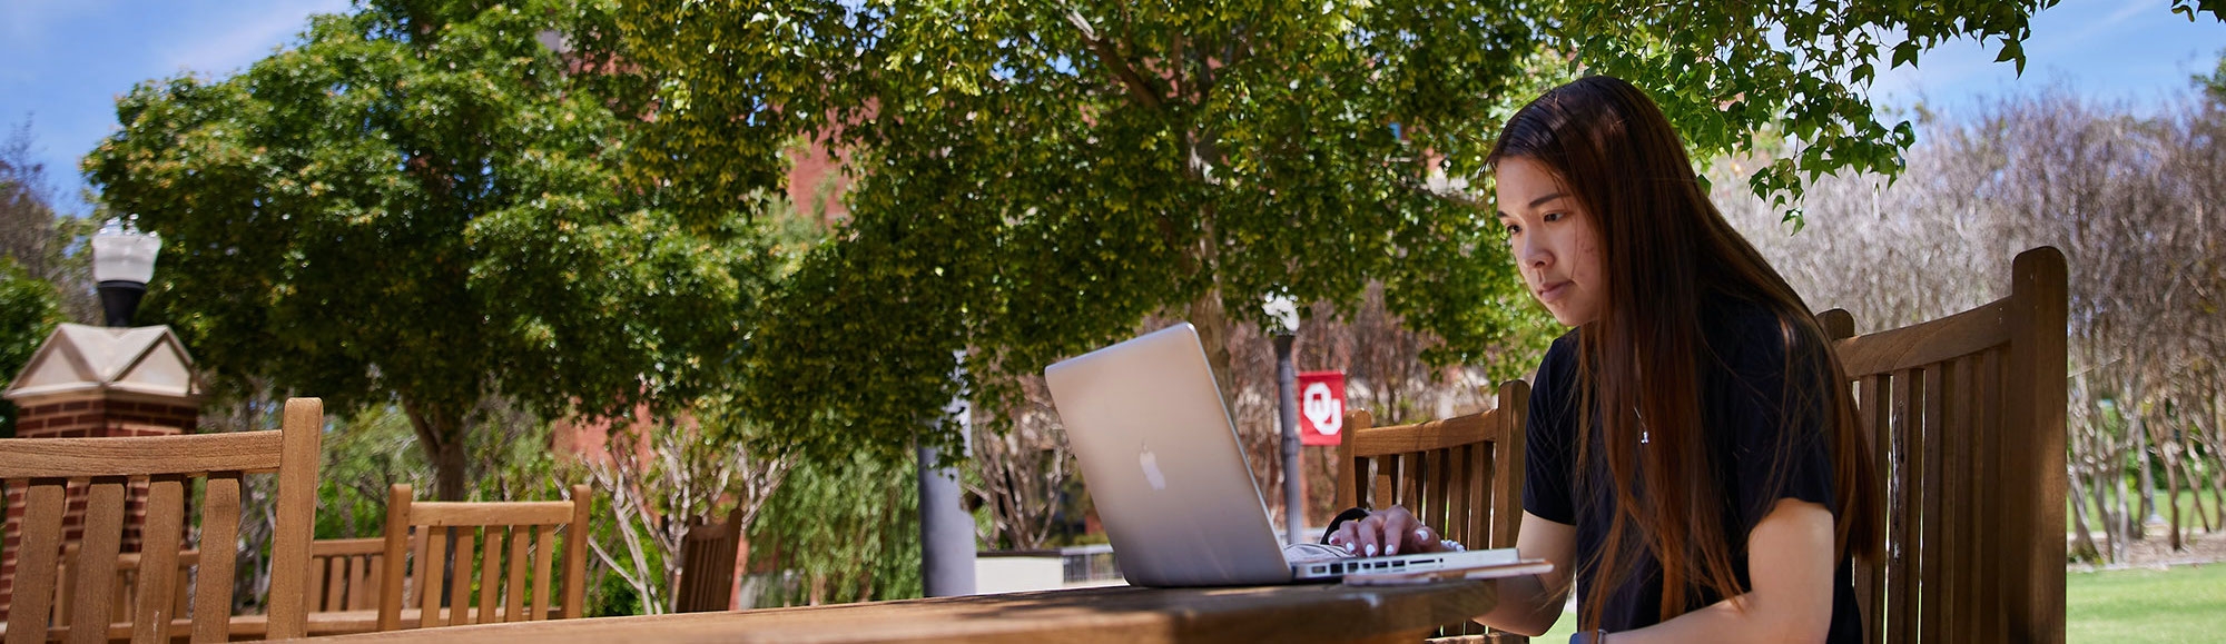
[[[2219,642],[2226,564],[2068,573],[2064,604],[2064,642]]]

